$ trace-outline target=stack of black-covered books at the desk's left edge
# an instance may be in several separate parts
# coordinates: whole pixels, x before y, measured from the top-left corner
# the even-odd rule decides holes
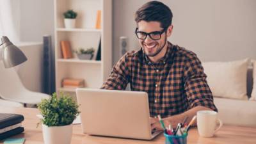
[[[21,122],[24,116],[10,113],[0,113],[0,140],[24,132]]]

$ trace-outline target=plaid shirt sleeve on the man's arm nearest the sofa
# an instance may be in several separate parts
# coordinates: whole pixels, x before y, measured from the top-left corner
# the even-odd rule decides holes
[[[184,71],[185,91],[190,108],[204,106],[218,111],[213,102],[212,92],[207,84],[202,63],[196,54],[190,54]]]

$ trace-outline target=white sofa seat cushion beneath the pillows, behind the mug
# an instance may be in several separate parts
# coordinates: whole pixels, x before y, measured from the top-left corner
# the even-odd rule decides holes
[[[256,126],[256,101],[214,97],[214,104],[224,124]]]

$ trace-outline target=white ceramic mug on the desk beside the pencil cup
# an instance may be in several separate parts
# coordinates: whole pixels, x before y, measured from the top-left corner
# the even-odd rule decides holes
[[[198,111],[196,113],[196,122],[199,136],[212,137],[223,125],[217,118],[216,111]],[[219,126],[217,124],[219,123]]]

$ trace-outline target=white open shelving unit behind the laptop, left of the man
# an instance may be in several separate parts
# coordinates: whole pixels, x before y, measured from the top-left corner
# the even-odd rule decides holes
[[[64,27],[63,13],[77,12],[76,28]],[[101,10],[101,29],[95,29],[97,10]],[[63,78],[84,79],[85,88],[100,88],[109,76],[112,63],[112,0],[54,0],[56,92],[76,92],[62,88]],[[101,60],[63,59],[60,41],[68,40],[72,50],[99,47]],[[95,53],[96,54],[96,53]]]

